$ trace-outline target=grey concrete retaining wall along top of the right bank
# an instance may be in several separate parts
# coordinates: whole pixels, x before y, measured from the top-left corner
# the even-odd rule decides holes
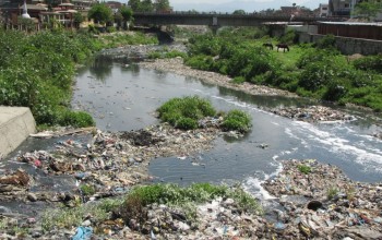
[[[299,34],[299,43],[317,43],[325,35]],[[335,37],[336,47],[343,55],[378,55],[382,53],[382,40],[371,40],[349,37]]]

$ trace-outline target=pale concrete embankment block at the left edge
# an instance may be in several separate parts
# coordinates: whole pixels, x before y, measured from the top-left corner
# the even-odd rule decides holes
[[[14,151],[35,131],[36,122],[29,108],[0,106],[0,157]]]

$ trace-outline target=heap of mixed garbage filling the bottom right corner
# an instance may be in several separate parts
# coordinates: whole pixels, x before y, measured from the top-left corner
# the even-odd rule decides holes
[[[277,238],[382,238],[381,183],[354,182],[317,160],[283,164],[284,170],[263,184],[284,206],[273,226]]]

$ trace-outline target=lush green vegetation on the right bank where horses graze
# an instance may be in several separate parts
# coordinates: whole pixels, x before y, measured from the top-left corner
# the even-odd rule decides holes
[[[184,62],[194,69],[227,74],[238,84],[246,81],[305,97],[382,110],[382,55],[348,62],[335,49],[333,35],[314,45],[295,44],[289,52],[278,52],[262,45],[293,44],[295,34],[289,31],[277,39],[265,34],[263,28],[226,28],[217,36],[192,37]]]

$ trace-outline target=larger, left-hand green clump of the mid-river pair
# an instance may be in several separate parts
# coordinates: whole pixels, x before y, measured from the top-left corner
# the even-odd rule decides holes
[[[199,120],[216,113],[210,101],[198,96],[172,98],[160,106],[157,111],[160,120],[184,130],[196,129]]]

